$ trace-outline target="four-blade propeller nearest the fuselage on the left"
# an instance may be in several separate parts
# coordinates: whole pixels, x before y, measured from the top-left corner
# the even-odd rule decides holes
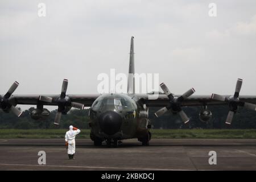
[[[39,96],[39,101],[43,102],[49,102],[49,103],[56,103],[58,106],[57,113],[54,119],[54,124],[59,125],[60,124],[60,118],[62,113],[65,111],[66,106],[75,107],[77,109],[84,109],[84,105],[80,104],[78,102],[71,102],[70,98],[66,96],[68,88],[68,80],[64,79],[61,87],[61,94],[60,97],[57,98],[57,100],[53,100],[52,97],[47,96]]]

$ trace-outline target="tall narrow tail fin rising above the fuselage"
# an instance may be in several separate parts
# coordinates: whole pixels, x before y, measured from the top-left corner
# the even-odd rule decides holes
[[[128,72],[127,93],[135,93],[133,39],[134,39],[134,37],[132,36],[131,37],[131,48],[130,48],[130,63],[129,63],[129,72]]]

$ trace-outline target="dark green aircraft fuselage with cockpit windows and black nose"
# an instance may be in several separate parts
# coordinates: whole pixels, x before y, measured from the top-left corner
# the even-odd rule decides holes
[[[140,114],[143,111],[144,108],[126,94],[102,94],[89,111],[90,137],[94,144],[100,145],[104,140],[115,143],[129,138],[138,138],[141,142],[147,140],[150,133],[147,115]]]

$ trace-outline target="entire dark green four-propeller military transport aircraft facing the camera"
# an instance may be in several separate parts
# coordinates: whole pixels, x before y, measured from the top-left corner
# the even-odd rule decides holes
[[[160,117],[170,110],[174,114],[179,114],[184,123],[189,118],[182,110],[183,106],[203,106],[199,113],[201,121],[208,121],[212,113],[207,109],[208,105],[229,105],[230,110],[226,123],[231,124],[238,106],[247,109],[256,109],[256,96],[240,96],[242,79],[237,80],[234,95],[221,96],[212,94],[212,96],[191,96],[195,89],[191,88],[182,95],[176,95],[170,92],[167,86],[162,83],[164,94],[159,94],[157,99],[151,99],[150,93],[135,93],[134,78],[134,37],[131,37],[130,63],[127,93],[111,94],[66,94],[68,80],[64,79],[61,94],[56,95],[13,95],[19,83],[14,82],[5,95],[0,95],[0,107],[8,113],[13,112],[18,117],[22,111],[15,106],[36,105],[36,109],[30,112],[31,118],[39,119],[49,115],[49,111],[44,109],[44,105],[57,106],[57,114],[54,123],[59,125],[61,115],[67,114],[71,107],[84,109],[89,106],[90,117],[90,138],[95,146],[100,146],[105,140],[107,146],[113,144],[117,146],[123,139],[138,138],[142,145],[147,146],[151,138],[149,129],[151,128],[148,118],[148,107],[162,107],[156,111],[155,116]]]

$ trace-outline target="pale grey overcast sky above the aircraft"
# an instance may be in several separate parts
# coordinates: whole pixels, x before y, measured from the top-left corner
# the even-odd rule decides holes
[[[46,17],[38,4],[46,4]],[[216,3],[217,16],[208,15]],[[256,1],[1,1],[0,93],[97,93],[97,76],[159,73],[171,92],[256,94]]]

